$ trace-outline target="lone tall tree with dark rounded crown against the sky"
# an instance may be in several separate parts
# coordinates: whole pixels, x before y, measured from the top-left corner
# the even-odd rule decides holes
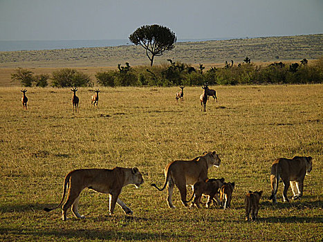
[[[140,45],[145,48],[150,66],[152,66],[154,57],[163,55],[166,50],[172,50],[177,38],[169,28],[154,24],[137,28],[129,36],[129,40],[136,46]]]

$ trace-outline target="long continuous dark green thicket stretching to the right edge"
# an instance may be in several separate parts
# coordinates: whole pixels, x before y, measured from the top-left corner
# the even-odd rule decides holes
[[[248,59],[249,61],[249,59]],[[118,66],[119,71],[96,73],[99,84],[103,86],[201,86],[207,82],[210,85],[237,84],[305,84],[323,82],[323,58],[312,65],[273,63],[268,66],[255,66],[243,63],[237,66],[227,64],[223,68],[210,68],[207,71],[196,69],[181,62],[159,66],[138,66],[132,68]]]

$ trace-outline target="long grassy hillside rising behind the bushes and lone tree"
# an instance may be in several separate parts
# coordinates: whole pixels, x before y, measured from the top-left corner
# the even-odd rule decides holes
[[[323,34],[288,37],[259,37],[176,43],[174,50],[156,57],[154,64],[172,59],[187,64],[216,64],[233,60],[243,62],[284,62],[318,59],[323,56]],[[21,50],[0,52],[0,67],[66,67],[148,65],[141,46],[75,48],[60,50]]]

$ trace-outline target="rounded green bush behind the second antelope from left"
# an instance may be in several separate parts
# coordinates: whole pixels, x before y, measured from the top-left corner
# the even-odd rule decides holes
[[[53,86],[92,86],[91,78],[80,71],[71,68],[63,68],[52,73]]]

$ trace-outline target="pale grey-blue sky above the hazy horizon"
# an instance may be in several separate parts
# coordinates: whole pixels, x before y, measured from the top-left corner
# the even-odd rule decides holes
[[[323,33],[323,0],[0,0],[0,40],[128,39],[150,24],[178,39]]]

